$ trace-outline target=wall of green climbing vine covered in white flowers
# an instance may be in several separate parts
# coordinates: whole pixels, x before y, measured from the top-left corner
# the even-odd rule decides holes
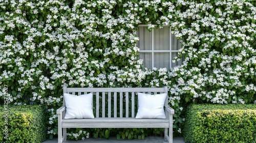
[[[8,85],[10,104],[46,104],[51,136],[64,84],[168,86],[175,135],[190,103],[256,103],[255,1],[0,2],[0,84]],[[169,26],[181,39],[183,64],[142,70],[140,24]],[[89,137],[78,132],[69,135]]]

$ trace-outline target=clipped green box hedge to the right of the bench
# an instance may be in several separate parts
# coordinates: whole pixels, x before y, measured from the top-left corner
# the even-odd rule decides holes
[[[188,106],[186,142],[256,142],[256,105]]]

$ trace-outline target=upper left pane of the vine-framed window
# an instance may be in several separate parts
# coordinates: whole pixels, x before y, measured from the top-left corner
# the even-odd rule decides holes
[[[152,50],[152,32],[149,32],[145,27],[139,27],[137,36],[140,38],[137,42],[140,50]]]

